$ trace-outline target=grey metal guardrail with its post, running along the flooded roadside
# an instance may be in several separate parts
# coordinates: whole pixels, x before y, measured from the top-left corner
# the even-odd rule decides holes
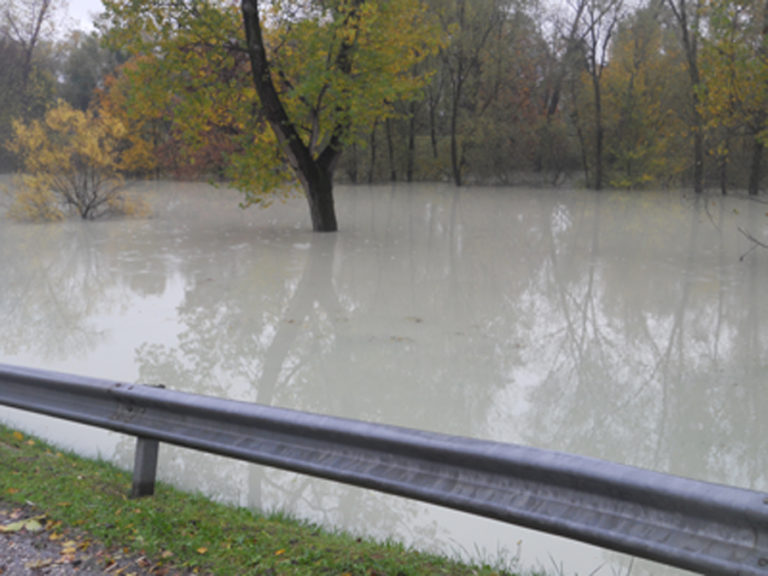
[[[705,574],[768,575],[765,493],[513,444],[1,364],[0,404],[139,437],[139,492],[151,492],[162,441]]]

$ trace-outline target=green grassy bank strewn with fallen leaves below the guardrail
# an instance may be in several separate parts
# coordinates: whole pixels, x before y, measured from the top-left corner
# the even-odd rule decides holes
[[[159,484],[130,500],[130,475],[0,426],[0,501],[32,503],[50,523],[163,570],[216,575],[416,576],[509,574],[213,503]]]

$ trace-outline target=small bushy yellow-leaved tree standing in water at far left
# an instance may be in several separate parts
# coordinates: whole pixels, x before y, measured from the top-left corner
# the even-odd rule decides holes
[[[131,154],[121,122],[60,100],[42,120],[16,120],[13,130],[8,148],[23,173],[16,179],[12,217],[60,220],[74,211],[90,220],[107,213],[145,213],[143,203],[124,193],[123,174],[143,166]]]

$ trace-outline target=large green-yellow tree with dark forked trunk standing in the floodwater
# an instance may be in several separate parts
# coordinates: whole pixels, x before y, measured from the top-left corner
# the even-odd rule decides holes
[[[438,44],[418,0],[105,5],[112,41],[145,58],[144,87],[191,149],[211,134],[232,141],[226,176],[246,205],[296,177],[316,231],[337,229],[333,173],[344,147],[416,94],[426,78],[410,71]]]

